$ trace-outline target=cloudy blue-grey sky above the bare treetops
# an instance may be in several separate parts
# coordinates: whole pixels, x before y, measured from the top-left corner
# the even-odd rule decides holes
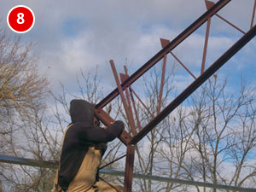
[[[253,3],[254,0],[232,0],[219,15],[247,32]],[[31,31],[18,34],[9,29],[6,16],[16,5],[32,9],[35,24]],[[21,37],[23,42],[35,43],[33,51],[38,55],[40,73],[48,75],[52,90],[59,91],[61,82],[67,90],[75,92],[76,73],[79,70],[94,73],[98,66],[108,93],[114,86],[110,59],[119,72],[123,72],[125,62],[129,73],[135,72],[161,49],[160,38],[177,37],[206,10],[204,0],[0,0],[0,25],[7,28],[12,38]],[[173,50],[196,77],[200,73],[205,31],[206,25],[201,26]],[[207,67],[238,38],[241,32],[214,16]],[[231,89],[241,73],[250,81],[256,81],[255,50],[254,38],[219,71],[229,76],[233,82]],[[172,56],[168,55],[167,60],[171,63]],[[193,79],[181,67],[178,69],[177,84],[183,89]]]

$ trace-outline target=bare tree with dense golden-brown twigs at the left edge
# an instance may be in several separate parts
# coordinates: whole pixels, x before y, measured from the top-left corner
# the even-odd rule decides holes
[[[48,81],[38,73],[33,45],[8,37],[3,29],[0,31],[0,153],[30,157],[32,154],[24,150],[29,143],[24,132],[31,129],[29,125],[36,118],[34,111],[41,113],[45,107]],[[37,125],[33,127],[35,130]],[[26,172],[23,166],[1,165],[3,190],[23,190],[28,183],[27,177],[21,177],[23,172]]]

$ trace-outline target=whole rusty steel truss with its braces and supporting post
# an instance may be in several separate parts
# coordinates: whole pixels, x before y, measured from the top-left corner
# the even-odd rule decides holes
[[[191,24],[187,29],[185,29],[180,35],[177,36],[177,38],[174,38],[172,42],[166,39],[160,39],[162,48],[156,55],[154,55],[148,62],[146,62],[143,67],[140,67],[137,72],[133,73],[130,77],[127,74],[127,69],[125,68],[125,74],[120,74],[121,84],[119,83],[119,78],[116,72],[116,69],[114,67],[113,61],[110,61],[111,67],[113,69],[114,77],[117,83],[117,88],[113,90],[108,96],[106,96],[102,102],[99,102],[96,105],[96,108],[103,108],[105,107],[108,102],[111,102],[116,96],[120,94],[122,98],[122,102],[124,104],[125,113],[127,115],[129,124],[131,126],[131,131],[135,137],[131,137],[129,133],[124,131],[125,133],[122,134],[120,137],[123,139],[123,143],[127,144],[127,156],[126,156],[126,162],[125,162],[125,192],[130,192],[132,187],[132,172],[133,172],[133,163],[134,163],[134,153],[135,148],[134,144],[137,144],[143,137],[145,137],[149,131],[151,131],[156,125],[160,123],[161,120],[166,118],[166,116],[171,113],[177,106],[183,102],[188,96],[190,96],[198,87],[201,86],[213,73],[215,73],[219,67],[222,67],[224,63],[230,58],[236,54],[236,52],[241,49],[249,40],[251,40],[255,36],[255,26],[253,27],[253,18],[251,21],[251,30],[249,32],[243,32],[239,27],[235,26],[234,24],[230,23],[230,21],[225,20],[223,17],[217,14],[219,9],[222,9],[227,3],[230,3],[230,0],[220,0],[218,3],[212,3],[210,1],[205,1],[207,5],[207,12],[198,20],[195,20],[193,24]],[[255,14],[255,4],[253,8],[253,15]],[[211,67],[209,67],[207,70],[205,70],[205,64],[207,60],[207,45],[208,45],[208,38],[209,38],[209,32],[210,32],[210,26],[211,26],[211,17],[212,15],[218,16],[221,20],[224,20],[226,23],[228,23],[230,26],[235,27],[237,30],[242,32],[244,35],[242,38],[240,38],[236,44],[234,44],[230,49],[228,49],[224,55],[220,56],[217,61],[215,61]],[[253,16],[254,17],[254,16]],[[206,37],[205,37],[205,44],[203,49],[203,55],[202,55],[202,61],[201,61],[201,76],[199,78],[196,78],[193,73],[189,71],[185,65],[178,60],[177,56],[172,53],[172,49],[175,49],[178,44],[182,43],[184,39],[188,38],[189,35],[192,32],[195,32],[196,29],[198,29],[202,24],[204,24],[207,21],[207,31],[206,31]],[[185,70],[195,79],[195,81],[192,84],[189,84],[188,88],[186,90],[183,90],[183,92],[177,96],[165,109],[163,109],[160,112],[161,108],[161,102],[162,102],[162,94],[163,94],[163,86],[165,81],[165,73],[166,73],[166,55],[170,53],[184,68]],[[162,67],[162,75],[161,75],[161,83],[160,83],[160,94],[157,98],[157,116],[154,117],[154,114],[148,110],[146,105],[143,103],[143,101],[137,96],[136,92],[131,89],[131,84],[134,83],[138,78],[140,78],[144,73],[148,71],[151,67],[153,67],[158,61],[160,61],[162,58],[163,60],[163,67]],[[123,93],[123,90],[125,90],[125,95]],[[130,94],[129,91],[130,90]],[[138,114],[137,114],[137,108],[134,100],[134,96],[137,96],[138,102],[141,102],[143,104],[143,107],[148,110],[148,114],[152,116],[152,120],[146,125],[143,129],[141,128],[141,125],[139,123]],[[132,106],[131,106],[132,103]],[[136,119],[137,119],[137,125],[139,127],[139,132],[137,133],[136,125],[134,118],[132,116],[132,107],[134,109]],[[108,115],[104,114],[102,115],[102,119],[108,120]],[[104,117],[104,116],[107,116]],[[125,135],[126,134],[126,135]]]

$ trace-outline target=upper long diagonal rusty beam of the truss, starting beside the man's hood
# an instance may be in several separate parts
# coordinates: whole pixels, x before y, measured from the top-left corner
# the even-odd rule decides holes
[[[135,73],[133,73],[129,79],[125,80],[121,84],[121,88],[124,90],[127,86],[136,81],[139,77],[146,73],[149,68],[153,67],[155,63],[160,61],[169,53],[172,49],[176,48],[178,44],[182,43],[184,39],[188,38],[192,32],[195,32],[202,24],[204,24],[208,18],[212,17],[219,9],[222,9],[227,3],[230,3],[231,0],[219,0],[218,3],[214,4],[211,9],[208,9],[206,13],[201,15],[194,23],[192,23],[188,28],[186,28],[182,33],[180,33],[177,38],[174,38],[170,44],[163,49],[161,49],[156,55],[154,55],[148,62],[146,62],[143,67],[140,67]],[[102,102],[99,102],[96,105],[96,108],[104,108],[108,102],[111,102],[116,96],[118,96],[119,90],[116,88],[108,96],[106,96]]]

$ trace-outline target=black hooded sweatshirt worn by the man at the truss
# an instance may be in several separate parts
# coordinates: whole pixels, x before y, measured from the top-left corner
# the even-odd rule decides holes
[[[85,154],[90,146],[98,143],[108,143],[119,137],[124,124],[115,121],[108,129],[93,125],[95,106],[84,100],[70,102],[72,125],[66,131],[61,149],[61,163],[58,182],[62,189],[67,189],[69,183],[79,172]]]

